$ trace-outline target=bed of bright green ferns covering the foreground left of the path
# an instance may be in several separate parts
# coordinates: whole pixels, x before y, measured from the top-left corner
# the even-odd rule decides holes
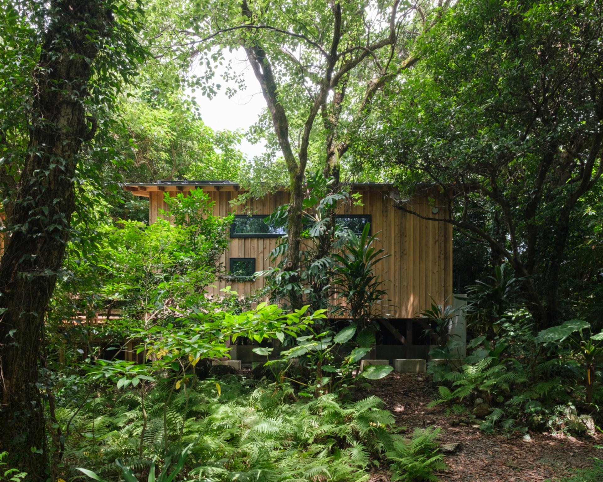
[[[121,463],[138,480],[147,480],[151,461],[162,469],[165,426],[172,452],[192,444],[186,480],[362,482],[371,465],[385,462],[393,464],[397,480],[419,481],[436,480],[433,472],[444,466],[435,453],[438,431],[416,431],[409,440],[394,436],[394,418],[374,396],[341,402],[329,393],[308,401],[297,399],[286,383],[232,375],[189,381],[173,397],[164,420],[168,389],[159,383],[146,397],[142,457],[145,420],[134,390],[122,390],[114,399],[95,398],[77,414],[63,410],[60,419],[74,416],[78,433],[66,449],[65,466],[120,480]]]

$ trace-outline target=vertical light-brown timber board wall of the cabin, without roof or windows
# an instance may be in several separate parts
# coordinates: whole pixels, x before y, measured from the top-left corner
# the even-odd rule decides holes
[[[183,192],[186,194],[189,189],[184,187]],[[219,190],[207,187],[204,190],[215,201],[213,214],[216,216],[226,216],[233,210],[235,214],[270,214],[289,200],[287,192],[279,191],[232,208],[230,201],[239,195],[232,187]],[[177,193],[175,190],[168,192],[172,196]],[[338,213],[371,214],[372,233],[380,231],[378,246],[391,256],[378,263],[376,271],[380,279],[385,281],[384,288],[391,299],[391,315],[394,318],[414,318],[419,311],[431,305],[430,295],[443,304],[452,295],[452,226],[444,222],[426,221],[397,209],[388,190],[359,192],[363,205],[346,205]],[[166,208],[163,196],[162,191],[148,192],[150,223],[160,216],[159,210]],[[434,204],[430,204],[430,199],[433,202],[434,197],[417,196],[409,204],[424,216],[446,216],[444,203],[437,203],[435,207],[438,207],[438,213],[432,213]],[[221,261],[228,268],[231,257],[253,257],[256,258],[256,270],[262,271],[270,266],[268,254],[276,243],[276,238],[233,238]],[[263,287],[264,280],[218,280],[215,284],[216,288],[210,289],[212,295],[219,296],[219,290],[226,286],[232,286],[239,294],[249,294]],[[447,303],[451,304],[452,298]]]

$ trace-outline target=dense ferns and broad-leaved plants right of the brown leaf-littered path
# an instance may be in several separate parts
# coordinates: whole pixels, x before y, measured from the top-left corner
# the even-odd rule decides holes
[[[499,267],[490,283],[500,287],[504,271]],[[488,431],[595,434],[602,420],[602,378],[596,367],[603,333],[593,334],[582,320],[537,331],[531,315],[518,308],[518,292],[507,289],[502,299],[499,292],[499,302],[488,305],[496,286],[479,284],[467,311],[473,327],[490,336],[470,340],[465,357],[456,354],[454,339],[432,349],[445,362],[429,364],[440,394],[430,406],[469,404]]]

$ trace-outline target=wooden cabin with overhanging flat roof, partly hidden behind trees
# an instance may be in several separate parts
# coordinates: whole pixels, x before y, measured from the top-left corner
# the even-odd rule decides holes
[[[168,193],[190,192],[203,189],[215,201],[213,214],[226,216],[234,211],[236,215],[230,236],[230,248],[222,261],[231,272],[242,268],[244,271],[262,271],[270,266],[268,254],[276,246],[278,233],[253,231],[254,225],[264,225],[261,219],[289,200],[286,190],[265,196],[263,199],[248,201],[233,208],[230,201],[237,198],[242,190],[229,181],[161,181],[150,184],[127,184],[124,189],[135,196],[149,199],[149,222],[161,216],[166,209],[163,202]],[[391,254],[376,265],[377,274],[385,282],[393,305],[393,318],[412,319],[418,312],[431,305],[431,298],[439,304],[452,303],[452,227],[446,223],[426,221],[396,207],[397,198],[391,184],[353,184],[352,192],[362,195],[362,205],[346,204],[340,208],[339,219],[361,229],[370,222],[372,233],[379,233],[379,245],[385,253]],[[426,188],[421,195],[406,201],[417,213],[435,218],[446,216],[446,203],[438,202],[434,187]],[[246,213],[253,213],[249,216]],[[257,220],[258,222],[254,222]],[[259,231],[259,230],[258,230]],[[219,280],[212,295],[226,286],[239,294],[254,292],[264,285],[264,279]],[[447,300],[447,301],[446,301]]]

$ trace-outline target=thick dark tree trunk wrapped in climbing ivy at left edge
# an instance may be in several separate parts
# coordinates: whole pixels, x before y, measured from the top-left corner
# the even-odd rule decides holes
[[[110,21],[102,1],[51,3],[34,72],[32,154],[24,160],[7,220],[11,236],[0,261],[0,447],[28,480],[46,480],[43,387],[37,385],[42,327],[75,208],[77,155],[93,135],[83,104],[90,60],[99,48],[90,36],[105,36]]]

